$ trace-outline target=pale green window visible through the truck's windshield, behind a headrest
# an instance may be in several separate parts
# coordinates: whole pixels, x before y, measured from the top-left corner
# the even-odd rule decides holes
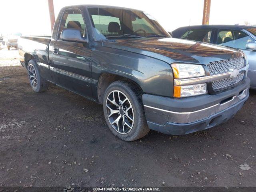
[[[120,20],[118,17],[92,15],[95,28],[104,36],[120,35]]]

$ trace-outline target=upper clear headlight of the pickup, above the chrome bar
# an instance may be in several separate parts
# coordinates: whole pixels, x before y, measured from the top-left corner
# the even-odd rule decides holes
[[[172,64],[172,70],[176,79],[205,76],[202,65],[174,63]]]

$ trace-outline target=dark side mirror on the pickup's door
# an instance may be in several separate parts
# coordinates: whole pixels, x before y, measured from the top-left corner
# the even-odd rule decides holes
[[[87,43],[87,38],[83,38],[81,31],[78,29],[63,29],[60,34],[60,39],[63,41]]]

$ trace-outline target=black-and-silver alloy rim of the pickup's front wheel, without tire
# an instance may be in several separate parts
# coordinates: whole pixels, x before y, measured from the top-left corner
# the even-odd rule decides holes
[[[134,112],[128,97],[121,91],[108,94],[106,112],[112,128],[120,134],[128,134],[134,125]]]

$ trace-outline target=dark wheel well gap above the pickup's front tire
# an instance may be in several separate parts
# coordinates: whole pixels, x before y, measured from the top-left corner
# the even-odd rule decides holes
[[[103,74],[101,74],[101,76],[99,78],[98,90],[97,90],[98,100],[101,104],[103,103],[103,96],[106,91],[106,88],[112,82],[120,81],[120,80],[134,84],[134,86],[136,86],[140,90],[140,92],[143,93],[142,88],[136,82],[134,82],[126,77],[119,76],[119,75],[115,75],[115,74],[111,74],[111,73],[103,73]]]

